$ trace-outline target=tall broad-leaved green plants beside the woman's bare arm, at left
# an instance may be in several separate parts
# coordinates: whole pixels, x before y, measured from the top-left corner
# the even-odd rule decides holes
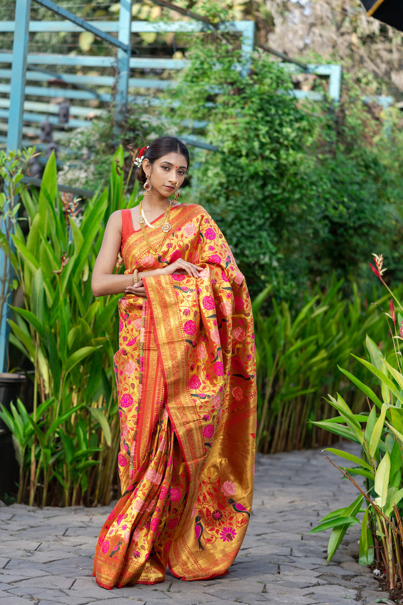
[[[24,307],[13,307],[10,340],[34,365],[34,402],[31,414],[21,402],[0,412],[20,464],[18,502],[109,501],[119,440],[113,388],[118,296],[94,301],[89,276],[106,219],[135,203],[136,190],[130,199],[122,193],[122,148],[108,189],[82,211],[71,196],[59,197],[54,155],[39,194],[20,192],[29,231],[25,237],[16,226],[11,261]]]

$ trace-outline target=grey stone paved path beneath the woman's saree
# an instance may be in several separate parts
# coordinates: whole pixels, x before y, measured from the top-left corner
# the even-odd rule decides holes
[[[351,445],[346,445],[352,450]],[[242,549],[223,578],[105,590],[92,578],[95,540],[111,507],[0,507],[1,605],[375,605],[388,603],[355,562],[350,530],[329,565],[318,520],[356,494],[319,450],[257,457],[254,509]]]

